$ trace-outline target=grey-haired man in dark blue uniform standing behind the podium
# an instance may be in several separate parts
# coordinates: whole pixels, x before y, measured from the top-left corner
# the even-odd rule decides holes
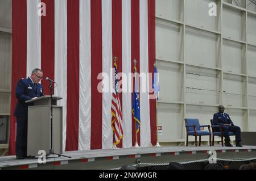
[[[27,121],[28,121],[28,106],[32,104],[25,103],[26,100],[31,100],[43,96],[43,86],[39,83],[43,78],[41,69],[34,69],[31,76],[22,78],[16,85],[16,98],[18,102],[14,116],[16,116],[17,132],[16,132],[16,158],[24,159],[27,157]]]

